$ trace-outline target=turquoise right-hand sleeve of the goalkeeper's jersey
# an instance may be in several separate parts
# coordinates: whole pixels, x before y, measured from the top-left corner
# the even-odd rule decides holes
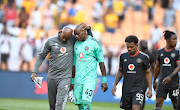
[[[98,42],[98,46],[97,48],[95,48],[95,55],[96,55],[96,59],[99,63],[104,62],[104,55],[103,55],[103,51],[102,51],[102,45],[100,42]]]

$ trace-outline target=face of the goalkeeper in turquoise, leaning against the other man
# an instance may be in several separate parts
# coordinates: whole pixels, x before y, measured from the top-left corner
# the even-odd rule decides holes
[[[74,30],[74,35],[78,41],[83,41],[86,36],[86,30],[83,30],[80,26],[76,27]]]

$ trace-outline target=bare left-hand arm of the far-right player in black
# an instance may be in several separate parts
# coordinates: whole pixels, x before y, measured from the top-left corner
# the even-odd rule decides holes
[[[156,64],[154,66],[154,79],[153,79],[153,88],[154,90],[156,90],[156,87],[157,87],[157,82],[156,82],[156,79],[159,75],[159,72],[160,72],[160,63],[158,61],[156,61]]]

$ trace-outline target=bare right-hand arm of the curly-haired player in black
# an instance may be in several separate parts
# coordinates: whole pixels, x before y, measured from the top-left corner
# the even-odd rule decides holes
[[[147,97],[151,98],[152,97],[152,76],[151,76],[151,72],[150,69],[146,70],[146,81],[149,87],[149,90],[147,92]]]

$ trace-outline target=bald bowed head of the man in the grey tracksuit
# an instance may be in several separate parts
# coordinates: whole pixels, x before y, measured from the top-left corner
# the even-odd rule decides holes
[[[68,39],[72,36],[73,30],[67,26],[65,26],[59,35],[59,38],[62,43],[66,43]]]

